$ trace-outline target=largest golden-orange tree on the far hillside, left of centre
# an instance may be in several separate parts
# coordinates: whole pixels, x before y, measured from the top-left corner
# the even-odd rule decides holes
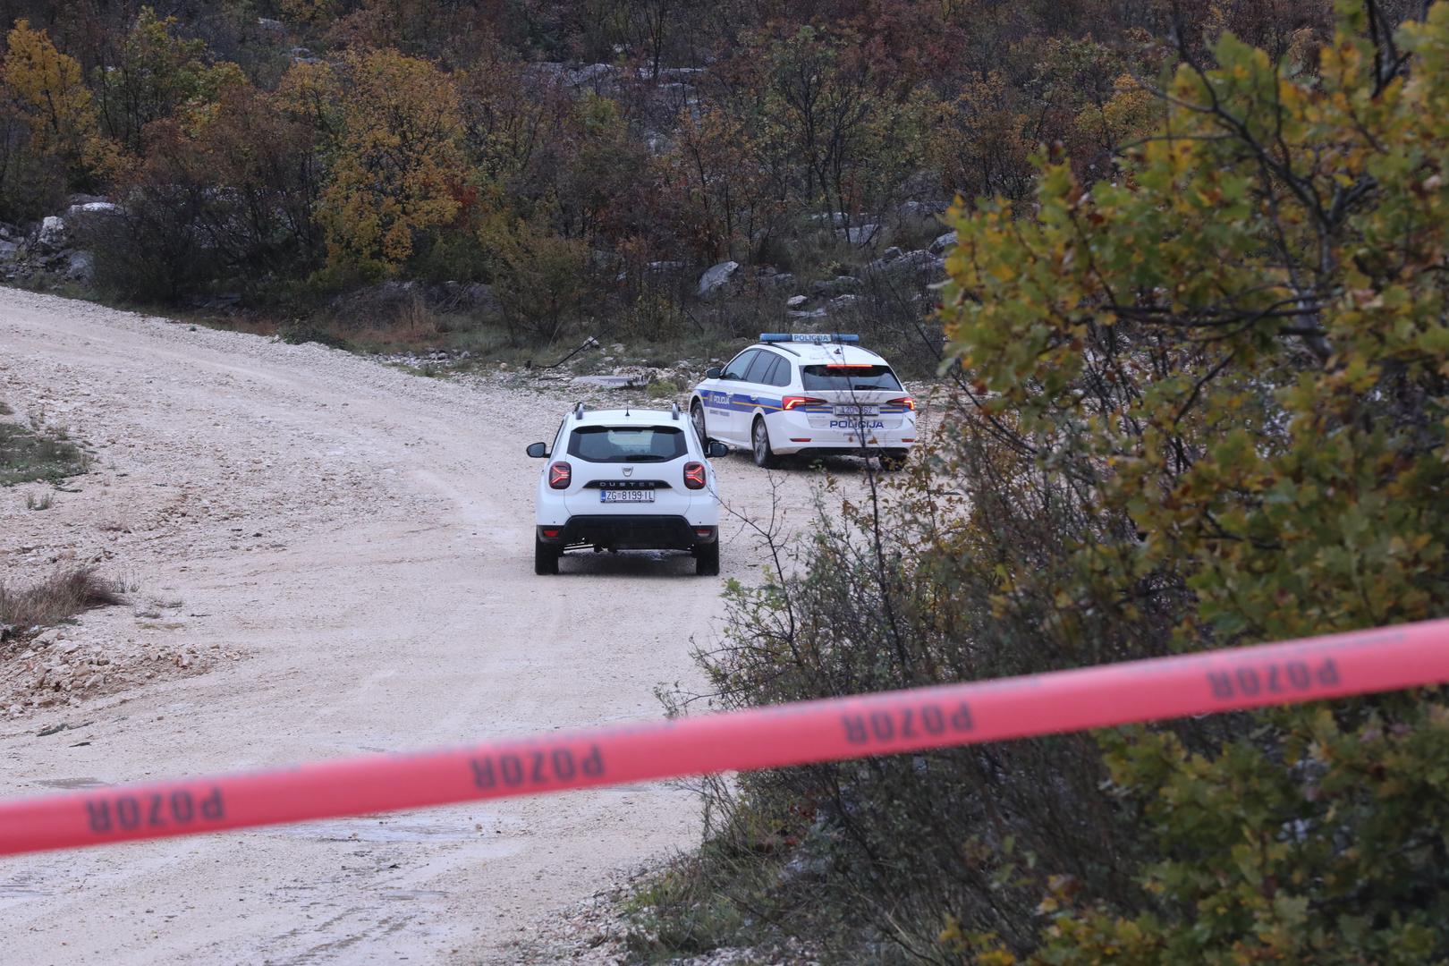
[[[338,277],[397,274],[458,213],[462,123],[452,77],[393,49],[348,55],[342,129],[319,220]]]

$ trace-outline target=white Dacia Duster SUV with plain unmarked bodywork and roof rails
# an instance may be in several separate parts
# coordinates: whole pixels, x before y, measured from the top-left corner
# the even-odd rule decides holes
[[[535,508],[533,572],[558,574],[565,550],[688,550],[701,576],[720,572],[720,501],[706,443],[675,404],[669,410],[585,410],[559,423]]]

